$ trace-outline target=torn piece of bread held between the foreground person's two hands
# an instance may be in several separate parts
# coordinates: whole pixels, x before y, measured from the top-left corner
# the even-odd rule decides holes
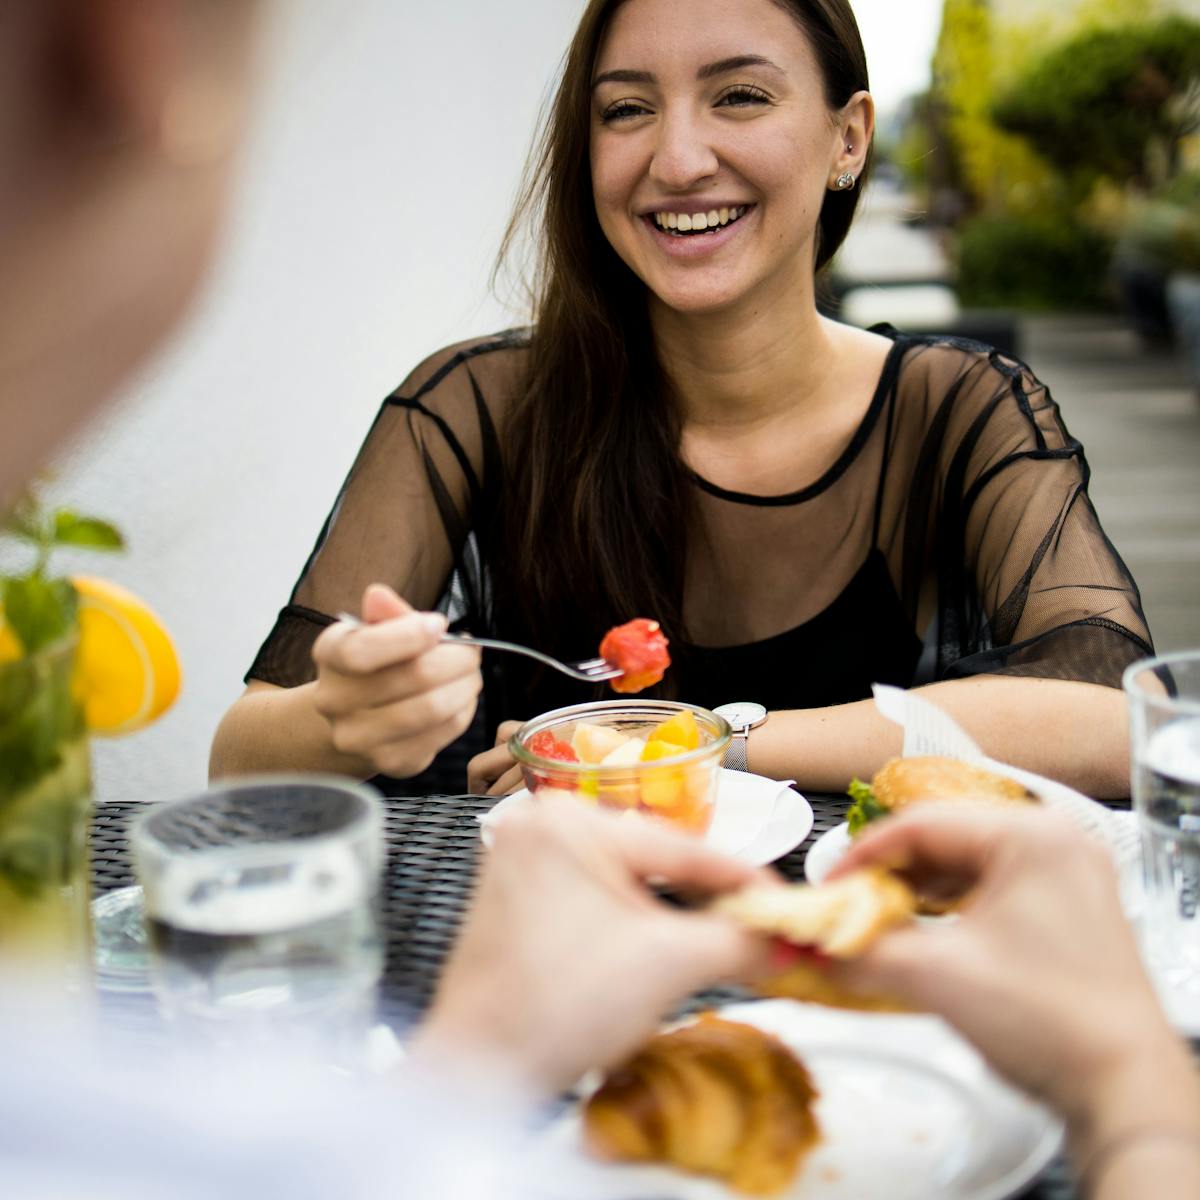
[[[799,948],[792,961],[755,984],[763,995],[865,1012],[908,1010],[890,996],[852,991],[821,965],[822,959],[857,958],[887,930],[912,920],[916,895],[882,868],[865,868],[816,887],[744,888],[722,896],[714,908]]]

